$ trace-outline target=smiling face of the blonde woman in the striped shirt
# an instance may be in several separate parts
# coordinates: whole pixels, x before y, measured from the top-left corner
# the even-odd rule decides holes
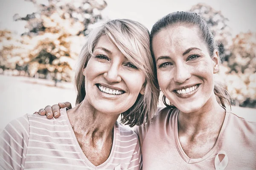
[[[85,100],[103,113],[118,114],[134,105],[143,93],[144,74],[103,35],[83,70]]]

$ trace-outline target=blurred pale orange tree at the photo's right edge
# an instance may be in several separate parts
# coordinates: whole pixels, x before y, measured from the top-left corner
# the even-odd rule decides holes
[[[228,91],[240,106],[256,108],[256,33],[240,33],[229,48]]]

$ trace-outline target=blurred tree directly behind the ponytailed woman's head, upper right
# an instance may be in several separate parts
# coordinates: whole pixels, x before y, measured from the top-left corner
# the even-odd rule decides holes
[[[192,6],[191,12],[196,12],[204,17],[209,28],[212,30],[215,36],[215,40],[218,41],[219,51],[222,54],[221,61],[227,61],[230,51],[227,50],[231,44],[231,29],[227,25],[228,19],[221,14],[221,11],[216,11],[211,6],[198,3]]]

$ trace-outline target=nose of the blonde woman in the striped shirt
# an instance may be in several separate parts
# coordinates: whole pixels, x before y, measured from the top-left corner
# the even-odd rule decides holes
[[[111,64],[108,70],[103,74],[103,77],[108,82],[121,82],[121,77],[119,75],[119,66]]]

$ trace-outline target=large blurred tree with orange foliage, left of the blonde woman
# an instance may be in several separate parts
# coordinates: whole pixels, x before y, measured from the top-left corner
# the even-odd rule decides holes
[[[34,3],[37,12],[15,21],[26,21],[22,43],[27,44],[28,72],[31,77],[71,81],[74,60],[78,57],[84,36],[93,23],[102,20],[104,0],[26,0]],[[61,76],[59,76],[61,74]]]

